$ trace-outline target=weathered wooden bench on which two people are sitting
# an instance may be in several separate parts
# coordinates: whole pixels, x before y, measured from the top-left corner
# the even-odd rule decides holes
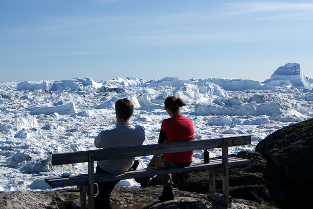
[[[231,204],[231,197],[229,196],[228,167],[249,163],[249,160],[245,159],[228,158],[228,147],[248,144],[251,144],[251,136],[204,139],[175,143],[142,145],[128,148],[108,148],[52,154],[52,165],[88,162],[88,174],[47,177],[45,178],[45,182],[52,188],[77,186],[80,189],[81,208],[86,209],[86,195],[88,195],[88,208],[93,209],[93,197],[96,193],[96,186],[94,183],[207,169],[209,172],[209,188],[207,193],[208,199],[220,201],[222,204],[227,206]],[[209,163],[194,162],[190,166],[184,168],[145,168],[119,174],[94,173],[94,161],[159,155],[164,153],[185,152],[191,150],[207,150],[214,148],[222,148],[222,159],[211,160]],[[223,194],[216,193],[216,175],[222,175]]]

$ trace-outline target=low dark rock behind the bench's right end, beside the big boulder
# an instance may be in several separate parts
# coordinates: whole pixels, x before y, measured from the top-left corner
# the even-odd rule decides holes
[[[265,177],[266,160],[260,153],[241,151],[238,157],[249,159],[247,165],[233,166],[229,173],[229,189],[232,198],[245,199],[258,203],[272,202],[268,192]],[[209,175],[206,170],[193,171],[190,173],[173,174],[174,186],[180,190],[199,192],[206,194],[208,191]],[[151,183],[156,184],[156,180]],[[149,183],[150,184],[150,183]],[[222,177],[216,176],[216,192],[222,193]]]

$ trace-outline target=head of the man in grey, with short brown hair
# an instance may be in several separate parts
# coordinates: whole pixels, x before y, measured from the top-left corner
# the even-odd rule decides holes
[[[134,104],[128,98],[119,99],[115,102],[115,113],[118,121],[129,121],[129,118],[133,115]]]

